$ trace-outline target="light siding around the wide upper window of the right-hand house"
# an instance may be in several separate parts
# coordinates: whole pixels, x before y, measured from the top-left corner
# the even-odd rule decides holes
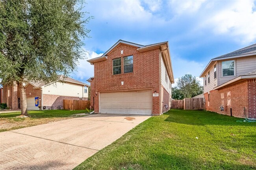
[[[222,70],[221,70],[222,61],[218,61],[219,85],[222,85],[227,81],[230,81],[238,76],[241,76],[247,72],[250,72],[256,69],[256,56],[243,57],[243,58],[230,59],[230,60],[235,60],[235,76],[222,77]],[[223,61],[226,61],[226,60],[223,60]]]

